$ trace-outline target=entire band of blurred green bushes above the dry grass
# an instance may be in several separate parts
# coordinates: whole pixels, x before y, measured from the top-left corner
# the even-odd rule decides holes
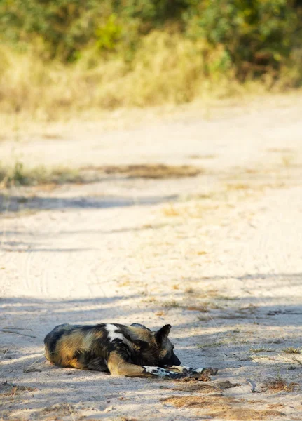
[[[287,0],[1,0],[0,39],[35,48],[43,58],[135,60],[153,30],[205,41],[207,72],[235,69],[240,80],[278,75],[301,45],[301,1]],[[274,73],[275,72],[275,73]]]

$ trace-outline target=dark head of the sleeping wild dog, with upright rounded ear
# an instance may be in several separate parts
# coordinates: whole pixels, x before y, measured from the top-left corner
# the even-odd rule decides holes
[[[146,326],[138,323],[131,326],[145,330],[145,333],[139,335],[139,357],[142,359],[139,363],[160,367],[180,365],[180,360],[174,354],[174,345],[168,338],[171,325],[167,324],[156,332],[151,332]]]

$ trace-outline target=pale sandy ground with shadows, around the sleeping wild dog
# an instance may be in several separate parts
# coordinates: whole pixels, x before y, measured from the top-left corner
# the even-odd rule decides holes
[[[203,168],[2,196],[0,419],[302,419],[301,105],[0,143],[1,159],[27,165]],[[181,362],[219,374],[125,379],[46,362],[54,326],[100,321],[171,323]]]

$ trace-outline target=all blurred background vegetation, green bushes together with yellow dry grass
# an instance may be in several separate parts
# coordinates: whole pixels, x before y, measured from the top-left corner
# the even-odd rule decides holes
[[[301,29],[301,0],[0,0],[0,104],[34,111],[53,83],[62,95],[43,93],[48,107],[78,109],[229,95],[256,80],[293,88]]]

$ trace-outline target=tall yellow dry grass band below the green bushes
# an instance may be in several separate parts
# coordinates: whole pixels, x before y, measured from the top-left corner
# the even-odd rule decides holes
[[[49,121],[87,109],[180,103],[249,90],[223,72],[213,80],[207,77],[204,48],[181,34],[153,31],[142,39],[131,64],[118,57],[96,60],[95,51],[87,51],[75,65],[63,65],[1,46],[0,108]],[[220,55],[213,52],[207,60],[215,62]]]

